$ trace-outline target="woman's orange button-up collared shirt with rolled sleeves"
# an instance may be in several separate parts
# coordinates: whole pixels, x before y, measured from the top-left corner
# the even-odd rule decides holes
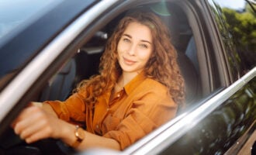
[[[164,122],[175,117],[177,105],[168,89],[157,81],[138,74],[109,101],[111,92],[88,108],[78,91],[66,101],[47,101],[60,119],[85,122],[86,130],[119,142],[121,149],[140,140]]]

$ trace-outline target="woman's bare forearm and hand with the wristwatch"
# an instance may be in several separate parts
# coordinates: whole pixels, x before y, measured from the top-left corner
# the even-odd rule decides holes
[[[74,135],[75,126],[58,119],[53,108],[48,104],[33,102],[32,106],[25,108],[14,123],[14,130],[26,143],[47,138],[60,139],[72,146],[77,138]],[[106,137],[85,132],[85,139],[78,145],[78,150],[92,147],[106,147],[120,150],[119,143]]]

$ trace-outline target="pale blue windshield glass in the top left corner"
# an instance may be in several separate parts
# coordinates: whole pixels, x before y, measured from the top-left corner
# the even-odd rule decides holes
[[[61,0],[0,0],[0,43],[4,36],[38,19]]]

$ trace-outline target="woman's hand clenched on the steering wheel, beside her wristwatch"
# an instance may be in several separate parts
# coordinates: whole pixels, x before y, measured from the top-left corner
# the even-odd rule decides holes
[[[30,105],[25,108],[13,122],[16,134],[26,143],[33,143],[46,138],[61,138],[61,126],[65,122],[52,112],[47,112],[42,105]]]

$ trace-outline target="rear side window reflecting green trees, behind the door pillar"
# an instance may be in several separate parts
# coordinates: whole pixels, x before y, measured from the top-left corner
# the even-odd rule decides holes
[[[256,64],[255,2],[209,0],[235,79]],[[234,79],[234,80],[235,80]]]

